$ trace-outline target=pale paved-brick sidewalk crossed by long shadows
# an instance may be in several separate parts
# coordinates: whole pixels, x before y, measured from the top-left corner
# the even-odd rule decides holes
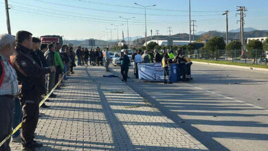
[[[39,119],[39,150],[206,150],[104,67],[76,67]],[[12,150],[21,144],[11,143]]]

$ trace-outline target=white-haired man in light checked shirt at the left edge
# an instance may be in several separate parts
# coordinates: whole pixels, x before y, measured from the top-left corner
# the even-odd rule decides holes
[[[10,64],[15,51],[15,38],[10,34],[0,35],[0,141],[12,132],[14,97],[19,93],[16,71]],[[0,150],[10,150],[10,139]]]

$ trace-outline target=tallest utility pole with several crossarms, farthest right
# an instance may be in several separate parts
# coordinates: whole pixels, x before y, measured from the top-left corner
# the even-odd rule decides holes
[[[237,6],[237,10],[236,11],[240,11],[240,42],[241,42],[241,53],[243,52],[244,49],[244,17],[246,16],[245,11],[246,8],[245,6]]]

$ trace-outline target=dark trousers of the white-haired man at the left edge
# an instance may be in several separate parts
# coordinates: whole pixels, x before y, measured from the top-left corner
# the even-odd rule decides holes
[[[9,97],[0,96],[0,141],[12,132],[14,100]],[[0,151],[10,151],[10,139],[0,147]]]

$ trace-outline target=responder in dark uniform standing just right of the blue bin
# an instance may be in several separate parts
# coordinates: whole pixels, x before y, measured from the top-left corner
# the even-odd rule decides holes
[[[179,66],[179,80],[182,82],[186,82],[186,60],[181,56],[181,53],[177,51],[177,56],[175,58],[175,63]]]

